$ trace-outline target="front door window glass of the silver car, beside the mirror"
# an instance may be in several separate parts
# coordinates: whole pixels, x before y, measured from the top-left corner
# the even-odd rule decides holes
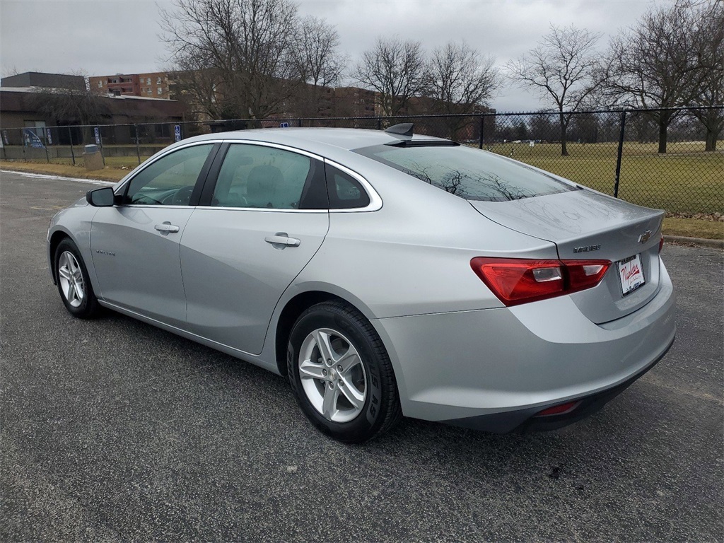
[[[198,174],[214,145],[186,147],[153,162],[128,184],[124,203],[188,206]]]

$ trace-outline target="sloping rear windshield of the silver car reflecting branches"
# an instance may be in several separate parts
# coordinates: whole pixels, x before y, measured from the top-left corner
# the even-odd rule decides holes
[[[382,145],[355,152],[466,200],[520,200],[576,190],[524,164],[466,146]]]

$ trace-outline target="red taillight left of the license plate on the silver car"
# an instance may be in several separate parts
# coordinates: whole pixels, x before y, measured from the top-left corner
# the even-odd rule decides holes
[[[502,303],[516,306],[595,287],[611,262],[479,256],[470,265]]]

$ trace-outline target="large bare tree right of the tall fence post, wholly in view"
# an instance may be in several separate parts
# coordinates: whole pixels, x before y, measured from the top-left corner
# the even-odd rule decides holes
[[[678,114],[668,108],[691,104],[705,78],[694,15],[688,0],[649,9],[613,39],[602,64],[602,84],[612,101],[657,109],[650,115],[659,127],[659,153],[666,152],[668,126]]]

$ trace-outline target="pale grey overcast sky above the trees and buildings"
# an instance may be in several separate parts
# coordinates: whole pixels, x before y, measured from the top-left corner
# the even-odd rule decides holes
[[[670,0],[301,0],[299,12],[336,25],[352,62],[378,35],[422,41],[432,50],[464,39],[502,65],[535,46],[549,25],[600,32],[599,47],[633,24],[652,4]],[[172,0],[0,0],[2,75],[18,72],[111,75],[162,71],[159,9]],[[531,111],[549,104],[506,85],[498,111]]]

